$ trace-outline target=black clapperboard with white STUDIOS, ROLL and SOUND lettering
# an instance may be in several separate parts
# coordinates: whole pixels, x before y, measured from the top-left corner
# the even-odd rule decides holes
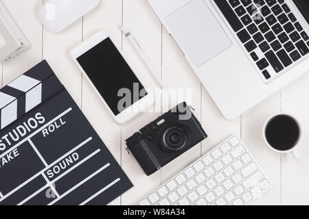
[[[0,205],[106,205],[132,188],[46,61],[0,90]]]

